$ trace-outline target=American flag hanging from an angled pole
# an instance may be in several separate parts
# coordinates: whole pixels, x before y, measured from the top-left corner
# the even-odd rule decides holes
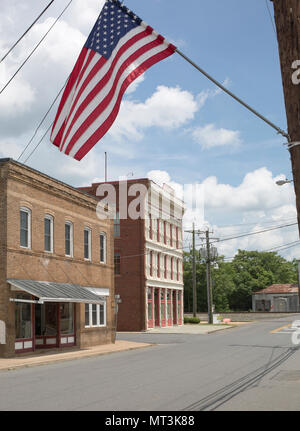
[[[127,87],[176,47],[118,0],[106,0],[65,91],[50,140],[81,160],[115,121]]]

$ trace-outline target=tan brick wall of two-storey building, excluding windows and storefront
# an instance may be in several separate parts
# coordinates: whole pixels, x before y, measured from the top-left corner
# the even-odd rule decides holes
[[[77,344],[112,342],[115,336],[113,223],[98,219],[97,200],[15,162],[0,163],[0,192],[0,320],[7,325],[7,344],[0,345],[0,356],[14,353],[14,304],[8,302],[12,293],[7,278],[109,288],[106,328],[85,329],[84,304],[76,306]],[[30,250],[20,248],[20,206],[31,209]],[[54,218],[53,253],[44,252],[44,215],[47,213]],[[65,256],[66,220],[73,222],[73,258]],[[92,230],[91,262],[84,260],[85,226]],[[100,263],[100,232],[107,234],[106,264]]]

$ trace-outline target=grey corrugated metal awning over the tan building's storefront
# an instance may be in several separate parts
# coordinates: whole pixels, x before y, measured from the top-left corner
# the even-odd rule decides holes
[[[90,287],[79,284],[55,283],[52,281],[7,279],[7,282],[17,288],[39,298],[38,303],[44,302],[82,302],[99,304],[103,301],[99,295],[90,291]]]

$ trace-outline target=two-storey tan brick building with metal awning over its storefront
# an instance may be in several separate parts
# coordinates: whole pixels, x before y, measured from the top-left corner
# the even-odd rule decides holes
[[[97,204],[0,159],[0,357],[114,342],[113,222]]]

